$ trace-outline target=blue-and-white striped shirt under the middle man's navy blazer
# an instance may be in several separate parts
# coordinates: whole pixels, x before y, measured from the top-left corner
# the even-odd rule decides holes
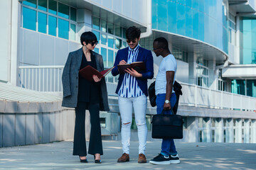
[[[128,60],[127,63],[131,64],[132,62],[136,62],[138,53],[139,53],[139,45],[134,49],[128,47]],[[139,97],[144,93],[142,89],[139,88],[136,77],[132,77],[129,73],[124,74],[124,80],[122,81],[122,85],[118,91],[118,95],[120,97],[130,98],[130,97]]]

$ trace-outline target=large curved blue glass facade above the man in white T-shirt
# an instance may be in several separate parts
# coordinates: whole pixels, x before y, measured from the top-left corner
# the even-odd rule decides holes
[[[152,28],[201,40],[228,53],[225,8],[218,0],[152,0]]]

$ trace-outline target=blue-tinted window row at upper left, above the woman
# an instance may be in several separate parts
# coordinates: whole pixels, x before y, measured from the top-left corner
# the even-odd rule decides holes
[[[75,8],[53,0],[27,0],[23,1],[22,6],[23,28],[75,40]]]

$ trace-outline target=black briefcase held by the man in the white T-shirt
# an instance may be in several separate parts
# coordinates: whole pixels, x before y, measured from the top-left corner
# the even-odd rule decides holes
[[[182,139],[183,119],[181,115],[165,115],[162,111],[152,118],[152,138],[156,139]]]

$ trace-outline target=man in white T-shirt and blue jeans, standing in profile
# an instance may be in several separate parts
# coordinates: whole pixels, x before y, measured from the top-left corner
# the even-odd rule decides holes
[[[161,55],[163,60],[159,66],[159,72],[156,76],[156,113],[172,114],[171,109],[176,103],[176,94],[174,92],[174,81],[176,77],[177,62],[174,55],[168,47],[168,41],[165,38],[156,38],[153,43],[153,50],[156,56]],[[180,160],[173,139],[163,139],[161,144],[161,153],[151,159],[151,164],[178,164]]]

